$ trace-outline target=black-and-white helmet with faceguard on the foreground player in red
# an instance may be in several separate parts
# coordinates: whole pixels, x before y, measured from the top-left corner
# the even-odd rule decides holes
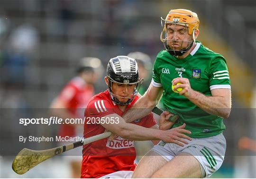
[[[107,67],[107,77],[109,80],[109,92],[113,102],[119,105],[129,104],[137,94],[137,88],[139,89],[143,79],[139,79],[138,66],[135,59],[127,56],[117,56],[110,59]],[[112,82],[126,85],[135,84],[133,94],[131,96],[123,97],[127,98],[127,102],[120,102],[115,94],[112,93]],[[122,97],[121,97],[122,98]]]

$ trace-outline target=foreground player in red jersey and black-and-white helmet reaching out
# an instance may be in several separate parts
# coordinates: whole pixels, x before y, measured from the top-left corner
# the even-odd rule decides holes
[[[183,129],[185,125],[166,130],[172,125],[169,122],[170,125],[163,128],[165,130],[158,130],[152,113],[132,123],[122,119],[122,114],[139,98],[137,88],[142,79],[139,80],[134,59],[127,56],[110,59],[105,82],[108,90],[93,96],[85,110],[84,138],[101,134],[106,129],[118,136],[111,141],[105,138],[83,146],[81,178],[131,178],[136,167],[134,140],[177,143],[178,139],[187,144],[183,139],[191,139],[183,134],[190,134]],[[160,120],[165,120],[166,116],[164,112]]]

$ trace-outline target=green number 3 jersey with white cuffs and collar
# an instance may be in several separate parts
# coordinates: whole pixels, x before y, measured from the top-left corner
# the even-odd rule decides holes
[[[160,51],[153,68],[152,85],[163,86],[164,107],[180,118],[174,127],[186,123],[186,129],[192,132],[191,137],[216,136],[225,129],[223,118],[211,115],[183,95],[172,91],[172,80],[176,77],[188,78],[191,88],[206,96],[211,90],[230,89],[229,71],[223,56],[200,42],[185,59],[177,59],[168,51]]]

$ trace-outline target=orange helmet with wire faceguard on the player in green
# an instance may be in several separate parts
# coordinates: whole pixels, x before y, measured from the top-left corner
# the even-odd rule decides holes
[[[168,15],[165,19],[161,17],[161,24],[162,24],[162,33],[160,35],[160,40],[164,43],[165,49],[174,56],[182,56],[185,52],[187,52],[193,45],[193,42],[195,42],[194,37],[194,30],[198,29],[199,27],[199,19],[197,17],[197,14],[186,9],[174,9],[170,10]],[[174,31],[176,29],[176,26],[185,26],[185,33],[184,37],[181,40],[175,39],[175,36],[173,39],[168,39],[167,34],[167,25],[172,24],[174,25]],[[173,32],[175,34],[175,32]],[[185,34],[189,34],[191,36],[191,39],[185,40]],[[174,49],[175,42],[179,43],[179,48]],[[183,47],[183,43],[187,43],[186,47]]]

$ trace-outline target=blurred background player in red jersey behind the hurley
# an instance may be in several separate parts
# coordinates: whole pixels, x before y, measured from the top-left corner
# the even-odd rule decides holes
[[[95,94],[93,84],[97,80],[99,70],[102,70],[101,60],[93,57],[82,58],[77,68],[77,76],[64,86],[61,93],[51,104],[52,115],[62,119],[83,118],[84,108],[90,98]],[[62,124],[58,131],[58,136],[82,137],[82,124]],[[61,143],[60,145],[65,145]],[[65,153],[69,159],[72,178],[80,178],[81,172],[81,149],[74,149]]]

